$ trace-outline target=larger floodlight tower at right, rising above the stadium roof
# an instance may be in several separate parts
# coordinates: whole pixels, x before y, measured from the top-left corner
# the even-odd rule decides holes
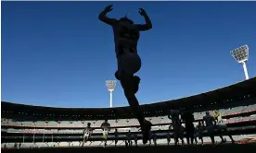
[[[243,65],[246,79],[249,79],[246,62],[249,58],[249,47],[247,44],[230,52],[231,55],[237,60],[239,64]]]

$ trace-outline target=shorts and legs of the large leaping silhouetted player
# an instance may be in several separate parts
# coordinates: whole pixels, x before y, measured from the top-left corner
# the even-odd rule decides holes
[[[140,69],[140,66],[141,61],[137,54],[122,54],[118,58],[118,71],[115,73],[115,76],[120,80],[124,95],[128,100],[131,110],[134,112],[134,116],[141,125],[143,143],[146,144],[149,138],[148,132],[151,129],[151,123],[145,120],[143,112],[140,110],[139,102],[135,97],[140,78],[139,76],[134,76],[134,73]]]

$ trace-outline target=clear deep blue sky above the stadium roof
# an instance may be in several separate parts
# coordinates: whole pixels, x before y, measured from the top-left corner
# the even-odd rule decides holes
[[[245,79],[230,51],[248,44],[256,76],[256,2],[2,2],[2,100],[54,107],[109,107],[114,79],[112,29],[97,19],[144,23],[138,52],[141,103],[172,100]],[[128,105],[120,83],[114,106]]]

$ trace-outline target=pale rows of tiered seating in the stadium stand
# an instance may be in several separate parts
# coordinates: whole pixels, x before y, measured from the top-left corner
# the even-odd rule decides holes
[[[229,114],[234,114],[237,112],[250,112],[255,110],[256,104],[250,105],[250,106],[241,106],[241,107],[235,107],[231,109],[223,109],[220,110],[223,116],[227,116]],[[213,110],[212,110],[213,111]],[[212,113],[212,111],[210,111]],[[194,116],[196,120],[202,119],[202,117],[205,115],[205,112],[195,112]],[[234,116],[234,115],[233,115]],[[241,121],[250,121],[250,120],[256,120],[256,115],[250,115],[250,116],[245,116],[245,117],[225,117],[225,123],[236,123],[236,122],[241,122]],[[159,117],[147,117],[147,120],[151,121],[152,124],[170,124],[171,120],[168,119],[167,116],[159,116]],[[91,120],[91,121],[37,121],[37,122],[28,122],[28,121],[23,121],[23,122],[16,122],[14,120],[6,120],[6,119],[1,119],[1,124],[5,125],[12,125],[12,126],[23,126],[24,128],[12,128],[11,126],[8,126],[7,130],[8,132],[25,132],[25,133],[41,133],[41,134],[83,134],[83,127],[87,125],[87,123],[91,123],[92,127],[96,127],[94,130],[94,134],[96,133],[102,133],[102,130],[99,129],[100,125],[103,123],[103,120]],[[111,130],[110,133],[113,133],[115,130],[115,127],[117,126],[127,126],[127,127],[122,127],[118,128],[119,132],[128,132],[129,130],[131,132],[137,132],[138,128],[136,127],[129,127],[129,126],[134,126],[134,125],[139,125],[138,121],[136,119],[119,119],[119,120],[109,120],[109,124],[111,124]],[[195,126],[198,124],[198,122],[194,123]],[[32,128],[27,128],[31,126]],[[6,126],[2,126],[5,127]],[[45,128],[48,127],[48,128]],[[51,127],[59,127],[59,129],[51,129]],[[61,129],[61,127],[70,127],[70,129]],[[77,128],[79,127],[79,128]],[[76,128],[76,129],[75,129]],[[158,130],[167,130],[169,129],[169,125],[155,125],[152,127],[152,131],[158,131]],[[159,133],[158,135],[165,135],[163,133]],[[242,139],[248,135],[239,135],[235,136],[234,138],[236,140]],[[219,137],[216,136],[216,141],[218,141]],[[228,138],[226,138],[228,139]],[[173,141],[173,140],[172,140]],[[211,142],[209,137],[204,137],[204,142]],[[141,144],[141,141],[138,141],[139,144]],[[167,141],[166,139],[159,139],[158,140],[159,144],[166,144]],[[6,143],[6,144],[1,144],[2,147],[13,147],[14,143]],[[95,147],[103,147],[103,143],[101,141],[94,141],[94,142],[87,142],[86,146],[95,146]],[[108,141],[108,145],[112,146],[114,145],[113,141]],[[119,141],[118,145],[124,145],[123,141]],[[36,142],[36,143],[24,143],[22,144],[21,147],[79,147],[81,146],[80,142]]]

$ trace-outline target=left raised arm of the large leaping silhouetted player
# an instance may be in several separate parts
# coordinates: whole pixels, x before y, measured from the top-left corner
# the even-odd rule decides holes
[[[109,18],[107,17],[107,14],[113,9],[113,5],[106,6],[105,9],[98,15],[98,19],[101,20],[102,22],[113,26],[115,23],[117,23],[117,19],[115,18]]]

